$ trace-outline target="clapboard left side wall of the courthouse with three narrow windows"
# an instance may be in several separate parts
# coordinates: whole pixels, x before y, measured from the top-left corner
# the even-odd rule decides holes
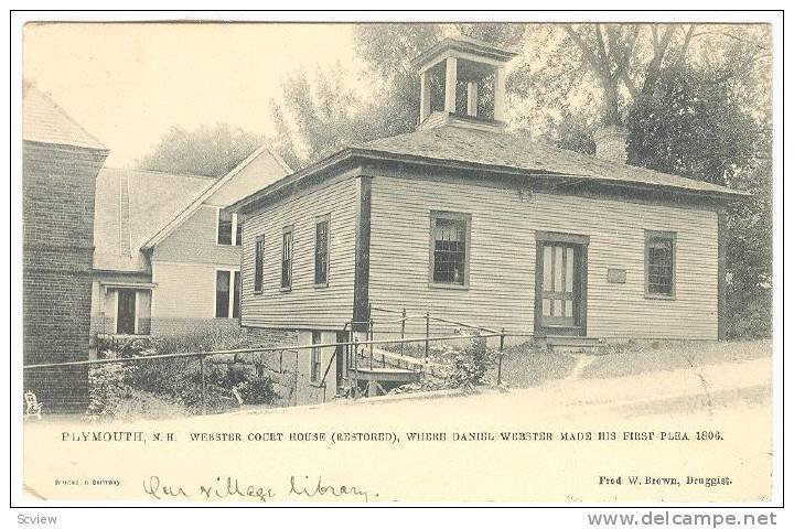
[[[342,328],[353,316],[358,180],[347,173],[243,222],[243,325]],[[329,215],[329,284],[314,287],[316,217]],[[292,289],[281,292],[281,235],[293,226]],[[254,293],[255,239],[265,237],[262,292]]]

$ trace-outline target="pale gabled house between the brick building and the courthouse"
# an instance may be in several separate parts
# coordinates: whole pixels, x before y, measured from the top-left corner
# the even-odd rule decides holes
[[[100,171],[92,336],[238,325],[242,226],[224,208],[289,172],[265,147],[221,179]]]

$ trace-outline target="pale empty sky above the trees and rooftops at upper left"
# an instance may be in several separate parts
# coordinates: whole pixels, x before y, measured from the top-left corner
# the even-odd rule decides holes
[[[352,72],[348,24],[29,23],[23,75],[130,166],[172,126],[270,134],[271,98],[298,69]]]

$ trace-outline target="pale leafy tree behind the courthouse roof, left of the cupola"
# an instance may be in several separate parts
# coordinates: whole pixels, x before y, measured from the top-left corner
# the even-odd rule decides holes
[[[419,118],[419,77],[411,60],[458,31],[502,46],[521,41],[524,24],[361,24],[354,40],[365,63],[356,84],[340,67],[297,73],[282,86],[280,101],[271,101],[278,133],[271,143],[296,166],[331,154],[344,145],[411,132]],[[462,99],[461,99],[462,100]]]

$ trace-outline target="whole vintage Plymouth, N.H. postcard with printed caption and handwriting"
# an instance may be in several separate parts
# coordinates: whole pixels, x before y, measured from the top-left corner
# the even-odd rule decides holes
[[[25,505],[780,503],[769,20],[28,14]]]

